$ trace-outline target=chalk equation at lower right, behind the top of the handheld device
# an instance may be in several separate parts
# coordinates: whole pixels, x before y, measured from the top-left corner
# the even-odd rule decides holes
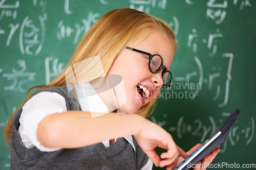
[[[158,124],[159,126],[165,128],[170,134],[177,134],[178,139],[182,139],[184,136],[194,136],[198,137],[200,143],[203,143],[206,139],[212,135],[217,127],[223,122],[223,120],[230,113],[222,113],[223,118],[216,121],[212,116],[208,116],[207,121],[201,119],[191,120],[186,118],[186,116],[180,116],[174,125],[171,127],[167,122],[168,115],[164,113],[162,118],[164,120],[157,120],[154,116],[151,116],[152,122]],[[207,122],[207,123],[205,123]],[[225,152],[228,145],[235,146],[237,143],[243,142],[244,145],[248,145],[254,136],[254,117],[248,117],[246,119],[246,124],[240,125],[239,120],[233,125],[228,135],[227,141],[222,145],[221,152]]]

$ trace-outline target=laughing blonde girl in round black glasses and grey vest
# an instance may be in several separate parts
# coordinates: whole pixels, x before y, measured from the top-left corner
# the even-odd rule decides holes
[[[106,13],[61,74],[36,86],[41,89],[10,117],[5,134],[11,169],[174,168],[198,145],[186,154],[144,117],[170,85],[176,48],[163,20],[133,9]],[[167,150],[162,160],[156,147]]]

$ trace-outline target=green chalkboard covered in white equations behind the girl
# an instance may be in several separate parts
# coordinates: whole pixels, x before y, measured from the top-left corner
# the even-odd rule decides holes
[[[223,164],[217,169],[254,164],[247,169],[255,169],[255,6],[253,0],[2,0],[0,128],[30,87],[49,83],[59,74],[100,16],[116,8],[135,8],[166,20],[179,45],[170,66],[172,87],[160,93],[148,119],[187,151],[239,108],[238,120],[213,164]],[[0,152],[0,169],[9,169],[3,135]]]

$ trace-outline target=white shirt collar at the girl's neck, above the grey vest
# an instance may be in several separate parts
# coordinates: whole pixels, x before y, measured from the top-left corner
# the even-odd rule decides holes
[[[82,111],[104,114],[109,113],[108,107],[106,107],[90,82],[79,84],[79,86],[75,86],[75,89]],[[126,114],[119,109],[117,109],[117,113]],[[134,151],[136,151],[132,135],[123,136],[123,138],[125,138],[132,145]]]

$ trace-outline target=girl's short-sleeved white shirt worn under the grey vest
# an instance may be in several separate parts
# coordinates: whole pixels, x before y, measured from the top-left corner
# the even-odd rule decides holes
[[[97,112],[97,113],[109,113],[108,108],[105,106],[96,90],[92,88],[90,83],[83,84],[84,87],[76,87],[78,102],[81,106],[82,111]],[[89,99],[90,100],[87,100]],[[26,148],[36,147],[42,152],[57,151],[60,148],[47,148],[37,140],[37,127],[38,124],[46,116],[67,111],[65,99],[56,92],[40,92],[34,95],[29,101],[23,106],[22,114],[19,118],[20,126],[18,132]],[[123,113],[117,109],[118,113]],[[124,113],[125,114],[125,113]],[[135,150],[132,135],[123,136]],[[115,138],[115,141],[117,138]],[[109,140],[104,140],[102,143],[105,147],[109,147]],[[135,150],[136,151],[136,150]],[[148,162],[142,169],[152,169],[153,162],[148,159]]]

